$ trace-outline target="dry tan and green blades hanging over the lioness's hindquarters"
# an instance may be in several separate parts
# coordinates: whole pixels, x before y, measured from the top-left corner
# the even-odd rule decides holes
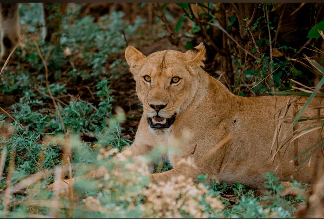
[[[324,39],[324,34],[322,31],[320,31],[320,35]],[[322,51],[320,51],[322,52]],[[318,82],[316,87],[309,87],[306,86],[300,82],[297,82],[293,79],[291,79],[292,82],[294,82],[297,86],[292,86],[293,90],[296,90],[297,92],[301,92],[300,95],[307,95],[309,96],[308,100],[306,103],[298,103],[295,100],[291,100],[291,97],[288,99],[287,103],[285,106],[280,110],[277,124],[276,124],[276,129],[275,129],[275,134],[273,137],[272,141],[272,147],[271,147],[271,156],[274,161],[274,158],[277,154],[279,154],[279,151],[281,148],[283,148],[285,145],[285,151],[288,148],[288,144],[291,142],[294,142],[294,152],[295,152],[295,158],[292,161],[295,161],[295,166],[300,167],[307,159],[311,160],[311,157],[317,151],[319,148],[322,148],[323,143],[322,143],[322,137],[321,137],[321,132],[323,130],[324,126],[324,115],[320,114],[320,111],[322,108],[324,108],[324,104],[321,104],[321,98],[319,98],[319,103],[314,103],[313,99],[315,96],[324,96],[324,93],[321,91],[323,90],[322,85],[324,84],[324,68],[318,64],[315,60],[310,59],[306,55],[304,55],[304,59],[306,62],[302,60],[295,60],[308,69],[310,69],[312,72],[315,72],[316,74],[320,75],[322,79]],[[286,92],[287,93],[287,92]],[[289,110],[289,107],[291,104],[294,104],[293,107],[293,116],[292,117],[287,117],[287,112]],[[299,109],[298,106],[301,106]],[[313,109],[317,110],[317,115],[306,115],[303,116],[303,113],[305,112],[306,109]],[[303,127],[299,127],[298,123],[303,122]],[[287,129],[287,131],[283,134],[282,132],[282,124],[283,123],[290,123],[291,125]],[[298,155],[298,138],[302,137],[310,132],[317,131],[318,132],[318,141],[308,148],[306,151],[302,152],[301,154]],[[283,135],[282,135],[283,134]],[[274,145],[277,143],[276,148],[273,152]],[[312,149],[312,151],[311,151]],[[321,149],[324,151],[323,149]],[[284,151],[284,154],[285,154]],[[298,162],[298,158],[304,155],[306,152],[309,152],[310,154],[307,156],[306,159],[304,159],[300,164]],[[284,155],[283,154],[283,155]],[[323,153],[324,155],[324,153]],[[298,165],[299,164],[299,165]],[[310,165],[310,161],[309,164]]]

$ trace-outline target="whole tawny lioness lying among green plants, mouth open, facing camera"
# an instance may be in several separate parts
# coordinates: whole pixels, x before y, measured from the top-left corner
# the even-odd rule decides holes
[[[128,150],[131,150],[133,155],[142,155],[150,153],[157,147],[168,148],[166,157],[174,169],[152,174],[152,179],[156,181],[166,181],[179,174],[193,178],[200,174],[208,174],[208,178],[218,181],[240,182],[262,189],[264,174],[275,171],[281,181],[289,181],[291,176],[294,176],[297,181],[310,182],[314,162],[311,162],[311,167],[306,163],[296,170],[294,162],[290,162],[295,157],[293,142],[280,149],[274,161],[272,160],[277,147],[277,144],[274,144],[272,148],[272,141],[279,111],[287,104],[289,97],[240,97],[230,93],[221,82],[199,67],[197,59],[201,61],[204,57],[204,51],[202,54],[200,54],[202,51],[199,51],[204,50],[202,47],[201,45],[196,47],[197,49],[192,51],[194,55],[166,50],[148,57],[137,53],[139,51],[135,48],[126,50],[126,60],[134,75],[139,99],[144,105],[144,113],[134,143]],[[191,60],[188,63],[186,56],[190,56],[190,59],[193,57],[196,62],[193,63]],[[165,68],[156,67],[163,65],[161,62]],[[198,66],[195,66],[196,64]],[[185,65],[187,66],[184,68]],[[168,87],[170,77],[174,74],[178,76],[179,72],[183,84],[181,86],[180,83],[171,84]],[[142,77],[145,74],[149,75],[152,81],[143,82]],[[188,83],[187,86],[184,83]],[[174,91],[180,93],[171,93]],[[301,98],[297,102],[305,103],[306,100],[307,98]],[[316,101],[319,99],[314,99],[313,103]],[[167,103],[169,106],[159,113],[163,115],[162,117],[168,118],[177,112],[170,128],[159,130],[149,126],[147,117],[154,116],[154,112],[149,108],[153,102]],[[286,117],[293,116],[294,104],[291,105]],[[299,109],[301,107],[299,106]],[[307,109],[303,115],[315,116],[317,110]],[[298,123],[299,128],[303,123],[305,122]],[[289,131],[289,127],[289,123],[282,125],[281,136]],[[233,137],[214,154],[204,159],[229,133],[232,133]],[[312,146],[317,138],[317,131],[298,138],[298,154]],[[175,148],[177,152],[174,151]],[[308,154],[300,157],[299,163]],[[204,160],[197,164],[196,169],[191,168],[188,171],[188,167],[183,168],[184,165],[178,164],[182,158],[188,157],[192,157],[195,162],[201,158]]]

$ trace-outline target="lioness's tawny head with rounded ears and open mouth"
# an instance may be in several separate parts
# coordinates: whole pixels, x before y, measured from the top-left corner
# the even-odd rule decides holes
[[[203,65],[204,46],[200,44],[186,53],[164,50],[148,57],[129,46],[125,57],[148,125],[155,134],[161,134],[186,110],[198,89],[195,69]]]

